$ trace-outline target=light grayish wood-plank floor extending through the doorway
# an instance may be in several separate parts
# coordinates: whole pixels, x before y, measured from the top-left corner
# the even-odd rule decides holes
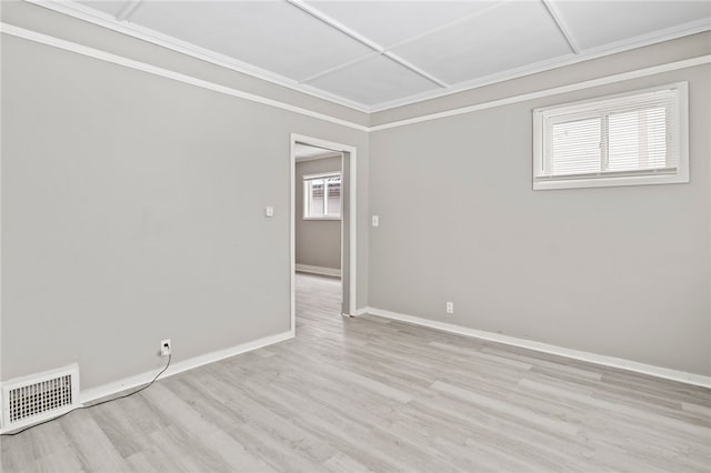
[[[297,338],[3,437],[2,471],[711,471],[711,392],[373,316],[299,274]]]

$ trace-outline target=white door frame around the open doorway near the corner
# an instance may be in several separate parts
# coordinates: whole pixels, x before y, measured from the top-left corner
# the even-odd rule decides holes
[[[342,211],[341,220],[341,288],[343,296],[348,298],[348,313],[344,315],[356,315],[356,295],[358,292],[357,274],[357,234],[358,234],[358,212],[357,212],[357,170],[358,170],[358,150],[356,147],[337,143],[333,141],[322,140],[320,138],[307,137],[304,134],[291,133],[291,155],[290,155],[290,195],[291,195],[291,222],[290,222],[290,280],[291,280],[291,332],[296,333],[297,320],[297,299],[296,299],[296,270],[297,270],[297,182],[296,182],[296,144],[310,144],[312,147],[324,148],[341,153],[341,174],[347,179],[343,187],[348,190],[348,209],[346,205]],[[348,163],[348,170],[346,164]],[[346,224],[348,223],[348,224]],[[348,229],[348,232],[344,230]],[[348,275],[346,271],[348,270]],[[348,280],[348,288],[343,284]]]

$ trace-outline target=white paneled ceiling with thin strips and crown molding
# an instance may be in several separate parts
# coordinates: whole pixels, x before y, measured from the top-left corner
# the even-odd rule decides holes
[[[373,112],[711,29],[711,1],[29,0]]]

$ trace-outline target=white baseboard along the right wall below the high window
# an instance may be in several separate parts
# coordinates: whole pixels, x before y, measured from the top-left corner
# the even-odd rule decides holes
[[[665,380],[679,381],[682,383],[693,384],[697,386],[711,388],[711,376],[703,376],[701,374],[693,374],[693,373],[687,373],[684,371],[670,370],[668,368],[654,366],[651,364],[639,363],[635,361],[624,360],[621,358],[605,356],[605,355],[600,355],[595,353],[567,349],[563,346],[551,345],[548,343],[535,342],[532,340],[517,339],[515,336],[508,336],[508,335],[501,335],[499,333],[491,333],[482,330],[469,329],[461,325],[454,325],[452,323],[438,322],[434,320],[422,319],[413,315],[405,315],[398,312],[385,311],[382,309],[365,308],[363,311],[364,313],[368,313],[371,315],[392,319],[401,322],[408,322],[415,325],[428,326],[430,329],[437,329],[444,332],[457,333],[459,335],[472,336],[475,339],[489,340],[492,342],[499,342],[507,345],[520,346],[523,349],[555,354],[560,356],[570,358],[573,360],[587,361],[587,362],[600,364],[603,366],[619,368],[622,370],[633,371],[635,373],[649,374],[652,376],[663,378]]]

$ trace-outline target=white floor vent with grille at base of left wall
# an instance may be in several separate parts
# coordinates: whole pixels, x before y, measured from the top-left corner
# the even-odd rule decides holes
[[[61,415],[79,404],[79,365],[2,383],[2,431]]]

